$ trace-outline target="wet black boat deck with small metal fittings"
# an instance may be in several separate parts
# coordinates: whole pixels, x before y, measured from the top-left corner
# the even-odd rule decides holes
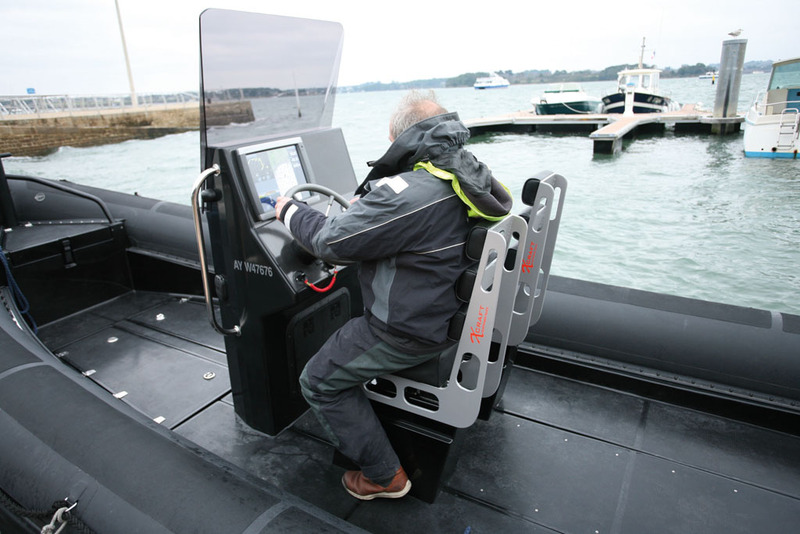
[[[556,372],[532,346],[428,504],[347,495],[308,414],[277,437],[244,425],[223,340],[197,300],[132,292],[40,337],[119,402],[370,532],[785,533],[800,522],[796,417],[734,417],[721,401]]]

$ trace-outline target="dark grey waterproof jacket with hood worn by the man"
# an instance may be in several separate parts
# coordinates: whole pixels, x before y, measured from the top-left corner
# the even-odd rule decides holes
[[[469,130],[448,113],[419,122],[398,136],[376,162],[346,212],[326,218],[292,201],[281,219],[314,255],[330,263],[358,262],[370,324],[423,344],[446,342],[459,308],[455,283],[472,263],[467,235],[477,219],[451,181],[423,169],[429,162],[458,177],[471,203],[504,216],[511,197],[489,169],[463,149]],[[463,195],[462,195],[463,196]]]

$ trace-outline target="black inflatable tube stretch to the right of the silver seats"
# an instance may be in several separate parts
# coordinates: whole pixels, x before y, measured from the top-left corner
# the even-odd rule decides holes
[[[527,341],[800,406],[796,315],[552,276]]]

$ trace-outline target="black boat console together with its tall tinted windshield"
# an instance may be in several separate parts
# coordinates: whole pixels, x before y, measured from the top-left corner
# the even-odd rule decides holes
[[[201,15],[207,171],[192,195],[209,319],[226,334],[236,412],[272,435],[306,410],[297,383],[305,362],[361,307],[355,270],[311,257],[275,218],[275,199],[293,187],[316,187],[295,198],[325,209],[320,188],[357,185],[342,132],[330,127],[342,28],[290,19],[298,33],[268,31],[282,20]],[[230,35],[243,36],[236,50]]]

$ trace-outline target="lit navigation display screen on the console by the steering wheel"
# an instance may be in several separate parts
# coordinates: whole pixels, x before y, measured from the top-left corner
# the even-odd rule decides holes
[[[308,183],[299,143],[257,145],[239,149],[239,157],[255,197],[256,212],[266,219],[275,215],[275,200],[299,184]],[[312,195],[300,193],[295,198],[307,200]]]

